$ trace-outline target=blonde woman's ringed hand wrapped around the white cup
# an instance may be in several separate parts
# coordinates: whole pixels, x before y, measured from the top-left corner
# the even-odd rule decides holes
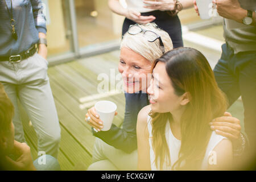
[[[117,111],[115,111],[115,115],[117,115]],[[86,121],[88,117],[90,117],[90,120]],[[88,113],[85,114],[85,121],[97,131],[101,131],[103,128],[103,121],[101,121],[100,115],[97,114],[95,107],[88,109]]]

